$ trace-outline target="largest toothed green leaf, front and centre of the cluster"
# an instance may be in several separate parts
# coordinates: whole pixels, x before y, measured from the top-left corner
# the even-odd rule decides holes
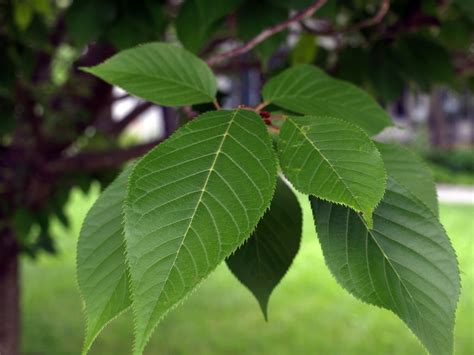
[[[136,354],[249,237],[270,204],[275,160],[262,119],[238,109],[199,116],[137,164],[125,203]]]

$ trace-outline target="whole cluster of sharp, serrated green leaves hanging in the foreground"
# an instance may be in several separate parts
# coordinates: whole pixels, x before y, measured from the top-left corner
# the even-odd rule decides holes
[[[84,70],[161,105],[216,102],[211,69],[172,44],[144,44]],[[267,318],[299,249],[295,189],[309,196],[341,286],[394,312],[430,353],[452,353],[456,256],[430,172],[407,149],[373,138],[391,125],[388,115],[363,90],[308,64],[271,78],[262,98],[256,108],[216,104],[99,197],[78,244],[84,352],[131,307],[141,354],[163,317],[223,261]]]

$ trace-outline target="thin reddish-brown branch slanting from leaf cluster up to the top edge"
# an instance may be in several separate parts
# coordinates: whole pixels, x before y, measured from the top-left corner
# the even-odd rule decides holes
[[[232,57],[237,57],[239,55],[247,53],[252,48],[254,48],[258,44],[265,41],[268,37],[271,37],[274,34],[283,31],[285,28],[290,26],[292,23],[299,22],[301,20],[304,20],[305,18],[311,17],[325,3],[326,3],[326,0],[315,1],[311,6],[309,6],[308,8],[306,8],[303,11],[298,12],[296,15],[290,17],[288,20],[280,22],[279,24],[276,24],[275,26],[268,27],[268,28],[264,29],[257,36],[252,38],[249,42],[244,43],[243,45],[241,45],[237,48],[234,48],[230,51],[220,53],[220,54],[217,54],[214,57],[209,58],[207,60],[207,64],[210,65],[210,66],[213,66],[213,65],[215,65],[217,63],[220,63],[220,62],[222,62],[226,59],[229,59],[229,58],[232,58]]]

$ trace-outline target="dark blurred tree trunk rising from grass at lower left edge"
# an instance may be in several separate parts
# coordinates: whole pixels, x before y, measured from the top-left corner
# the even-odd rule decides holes
[[[13,231],[0,231],[0,355],[19,351],[18,245]]]

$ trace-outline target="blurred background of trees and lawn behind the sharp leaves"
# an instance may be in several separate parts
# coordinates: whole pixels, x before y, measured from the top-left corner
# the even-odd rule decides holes
[[[75,248],[85,213],[127,161],[212,109],[160,107],[79,68],[149,41],[211,58],[312,3],[0,0],[0,343],[22,354],[80,352]],[[300,63],[367,90],[394,121],[377,139],[410,147],[432,169],[461,269],[456,354],[474,354],[474,3],[329,0],[214,66],[222,106],[258,104],[268,78]],[[300,201],[303,243],[268,323],[222,265],[158,326],[146,353],[423,353],[393,314],[337,285]],[[131,342],[128,312],[91,353],[128,354]]]

